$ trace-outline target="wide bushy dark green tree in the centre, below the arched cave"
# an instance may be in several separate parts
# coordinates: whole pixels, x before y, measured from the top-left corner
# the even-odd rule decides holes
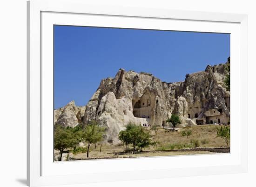
[[[142,148],[148,147],[149,145],[155,145],[155,142],[151,140],[149,132],[144,130],[143,127],[133,123],[128,123],[126,129],[120,131],[118,138],[127,147],[129,144],[132,144],[133,154],[135,154],[138,149],[142,150]]]

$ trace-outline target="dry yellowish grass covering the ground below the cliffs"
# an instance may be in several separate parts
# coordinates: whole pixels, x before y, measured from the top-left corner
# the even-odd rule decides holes
[[[184,130],[191,130],[192,134],[182,136],[181,132]],[[222,138],[216,137],[216,126],[215,125],[202,125],[196,127],[184,127],[180,128],[179,131],[166,133],[165,129],[159,128],[157,134],[154,131],[150,132],[154,141],[157,141],[155,147],[144,148],[143,151],[152,150],[171,150],[171,149],[182,149],[192,147],[228,147]],[[198,144],[198,145],[196,145]],[[130,148],[132,148],[130,146]],[[187,155],[187,154],[213,154],[208,151],[188,151],[188,152],[156,152],[156,153],[141,153],[141,154],[124,154],[115,155],[114,153],[123,152],[124,147],[113,144],[104,144],[101,147],[94,145],[90,148],[89,158],[131,158],[131,157],[148,157],[148,156],[170,156],[170,155]],[[86,153],[69,154],[70,158],[75,160],[86,159]]]

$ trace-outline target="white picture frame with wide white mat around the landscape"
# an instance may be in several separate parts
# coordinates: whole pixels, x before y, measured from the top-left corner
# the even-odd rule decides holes
[[[100,19],[94,19],[95,16]],[[104,21],[102,21],[103,19]],[[90,20],[93,21],[89,22]],[[84,0],[28,1],[27,185],[67,185],[247,172],[247,22],[248,17],[244,14],[110,7],[93,3],[87,4]],[[234,128],[231,127],[231,153],[54,163],[51,159],[52,139],[45,138],[52,136],[52,126],[45,125],[45,121],[52,120],[51,114],[47,116],[47,110],[53,110],[50,99],[53,93],[50,83],[53,80],[50,75],[53,59],[51,27],[58,23],[65,25],[90,24],[90,26],[100,24],[102,27],[150,27],[152,29],[164,29],[168,25],[165,23],[172,23],[172,27],[167,30],[176,28],[176,30],[182,31],[231,33],[230,56],[234,66],[232,64],[233,67],[231,67],[232,114],[230,121],[232,121],[232,115],[237,117],[237,122],[234,123],[236,125]],[[232,77],[232,73],[236,76]],[[49,83],[50,86],[45,87],[46,83]],[[236,87],[232,87],[235,84]],[[192,164],[189,163],[189,159],[193,159]],[[211,159],[210,164],[208,163],[209,159]],[[149,166],[148,162],[154,164]],[[161,166],[161,163],[170,162],[173,164]],[[137,169],[131,167],[134,165]],[[121,166],[125,167],[120,168]],[[74,168],[77,169],[74,171]],[[84,168],[90,168],[90,172],[84,171]],[[67,170],[72,172],[67,173]]]

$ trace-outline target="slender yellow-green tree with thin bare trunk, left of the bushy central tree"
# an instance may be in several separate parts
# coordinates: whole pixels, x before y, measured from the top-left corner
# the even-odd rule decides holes
[[[104,127],[100,127],[96,121],[91,121],[84,129],[83,129],[83,140],[88,142],[87,147],[87,157],[89,157],[89,150],[92,143],[97,143],[103,139],[103,135],[105,132]]]

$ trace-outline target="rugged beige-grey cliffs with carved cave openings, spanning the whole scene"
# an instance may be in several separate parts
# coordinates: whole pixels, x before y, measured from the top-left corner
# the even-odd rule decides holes
[[[182,126],[228,123],[230,94],[223,83],[225,74],[225,64],[219,64],[187,74],[184,82],[166,83],[149,73],[120,69],[115,78],[101,80],[86,107],[78,109],[69,103],[54,111],[55,120],[65,126],[97,120],[108,127],[108,141],[116,141],[130,121],[170,126],[166,120],[171,114],[180,116]]]

